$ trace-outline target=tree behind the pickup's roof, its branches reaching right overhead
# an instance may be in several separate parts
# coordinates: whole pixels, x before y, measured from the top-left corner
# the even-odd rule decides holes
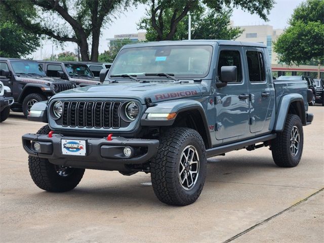
[[[210,13],[215,16],[223,14],[224,8],[241,7],[267,20],[266,16],[274,4],[274,0],[142,0],[142,2],[149,3],[150,7],[139,26],[144,25],[151,33],[155,32],[155,41],[176,39],[177,30],[184,27],[184,19],[189,11],[194,16],[199,14],[201,9],[209,8],[212,10]]]

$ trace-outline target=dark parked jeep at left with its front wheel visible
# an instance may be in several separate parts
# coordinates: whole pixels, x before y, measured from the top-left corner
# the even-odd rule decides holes
[[[0,81],[11,89],[15,99],[12,110],[22,111],[25,116],[34,103],[77,87],[60,77],[47,77],[38,62],[32,60],[0,58],[0,70]]]

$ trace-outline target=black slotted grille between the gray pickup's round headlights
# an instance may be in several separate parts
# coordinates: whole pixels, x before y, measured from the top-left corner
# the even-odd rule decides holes
[[[120,128],[129,123],[120,118],[121,102],[64,101],[62,126],[79,128]]]

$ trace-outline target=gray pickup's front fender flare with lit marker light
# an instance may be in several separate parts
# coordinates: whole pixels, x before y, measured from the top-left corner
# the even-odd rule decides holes
[[[177,115],[184,111],[196,110],[201,115],[203,119],[205,133],[208,140],[208,147],[212,147],[210,131],[208,130],[208,122],[207,116],[205,113],[204,107],[201,105],[200,102],[191,99],[181,99],[181,100],[169,100],[164,102],[156,103],[155,106],[148,107],[145,110],[145,113],[141,117],[141,126],[152,126],[152,127],[159,127],[159,126],[172,126],[174,124],[175,119],[172,120],[148,120],[147,115],[148,113],[174,113],[176,112]]]

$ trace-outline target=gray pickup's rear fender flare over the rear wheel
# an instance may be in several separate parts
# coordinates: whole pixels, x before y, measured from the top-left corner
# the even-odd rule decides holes
[[[288,94],[282,96],[279,101],[279,110],[277,112],[274,125],[274,130],[276,132],[281,132],[284,130],[289,107],[293,102],[297,102],[297,108],[299,113],[298,116],[300,116],[303,126],[306,125],[306,111],[303,96],[300,94]]]

